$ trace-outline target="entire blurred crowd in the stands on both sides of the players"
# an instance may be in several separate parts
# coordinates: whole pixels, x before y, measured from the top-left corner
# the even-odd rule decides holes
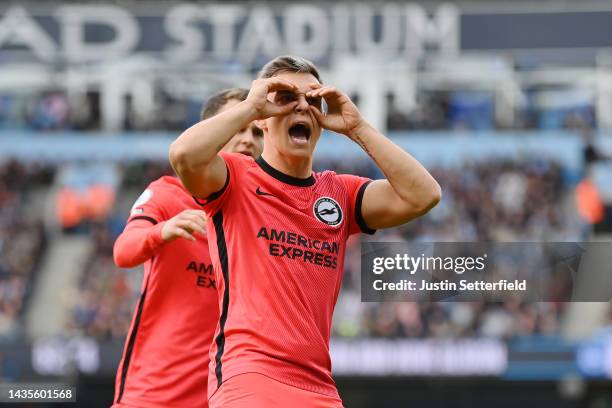
[[[378,178],[370,161],[317,161],[317,170],[334,169]],[[48,188],[55,170],[8,162],[0,165],[0,337],[19,330],[24,303],[45,248],[40,216],[27,212],[28,198]],[[344,283],[334,316],[335,336],[496,337],[552,334],[559,326],[562,303],[389,302],[362,303],[360,242],[373,241],[571,241],[579,236],[568,204],[570,185],[558,163],[537,158],[465,163],[433,168],[442,185],[442,202],[426,217],[401,228],[349,240]],[[127,333],[141,290],[141,268],[122,270],[113,263],[112,247],[129,206],[146,185],[171,174],[164,162],[123,165],[114,208],[93,220],[86,233],[93,245],[75,291],[68,329],[104,340]]]

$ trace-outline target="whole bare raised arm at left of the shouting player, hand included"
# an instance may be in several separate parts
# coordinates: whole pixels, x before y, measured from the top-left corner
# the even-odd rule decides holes
[[[246,100],[185,130],[170,146],[170,164],[185,188],[205,198],[223,188],[227,169],[219,151],[240,129],[256,119],[291,111],[297,102],[278,106],[267,100],[269,92],[295,85],[280,78],[253,81]]]

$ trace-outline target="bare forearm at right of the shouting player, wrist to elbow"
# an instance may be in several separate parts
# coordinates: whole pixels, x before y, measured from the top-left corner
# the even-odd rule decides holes
[[[418,160],[369,124],[350,137],[374,160],[397,196],[409,205],[430,208],[440,199],[440,186]]]

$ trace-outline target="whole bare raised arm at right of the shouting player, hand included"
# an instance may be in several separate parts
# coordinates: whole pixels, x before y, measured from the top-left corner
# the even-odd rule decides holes
[[[348,96],[334,87],[313,84],[310,97],[323,97],[326,114],[313,113],[321,126],[343,133],[376,162],[386,180],[376,180],[366,188],[361,213],[373,229],[404,224],[432,209],[442,196],[440,186],[410,154],[367,123]]]

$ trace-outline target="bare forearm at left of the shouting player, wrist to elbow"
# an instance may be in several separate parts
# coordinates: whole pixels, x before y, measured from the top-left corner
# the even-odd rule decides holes
[[[256,115],[253,107],[243,101],[212,118],[185,130],[170,146],[170,163],[179,176],[204,169]]]

